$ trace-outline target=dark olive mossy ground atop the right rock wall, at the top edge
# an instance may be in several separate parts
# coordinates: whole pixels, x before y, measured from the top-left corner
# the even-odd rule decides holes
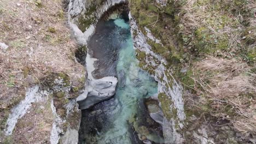
[[[131,13],[135,16],[138,26],[144,35],[147,35],[144,27],[150,29],[153,35],[161,40],[161,44],[156,44],[148,40],[148,44],[156,53],[164,56],[169,62],[176,62],[183,59],[183,50],[179,47],[176,33],[173,31],[173,19],[170,14],[173,13],[172,4],[167,7],[155,5],[154,1],[130,1]]]

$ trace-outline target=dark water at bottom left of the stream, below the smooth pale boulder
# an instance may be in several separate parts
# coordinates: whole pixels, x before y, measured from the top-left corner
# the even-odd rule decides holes
[[[96,143],[102,133],[111,127],[121,106],[116,98],[102,101],[82,111],[79,143]]]

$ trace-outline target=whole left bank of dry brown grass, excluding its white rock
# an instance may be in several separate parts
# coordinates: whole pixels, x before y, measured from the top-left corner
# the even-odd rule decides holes
[[[66,6],[61,1],[0,1],[0,143],[50,142],[55,121],[51,99],[54,97],[57,115],[63,115],[69,100],[84,88],[86,70],[74,56],[78,46],[66,25]],[[56,99],[51,87],[45,85],[55,75],[68,82],[68,98]],[[22,117],[14,123],[12,135],[6,136],[11,110],[36,85],[39,93],[49,92],[51,96],[28,105],[24,116],[16,113]]]

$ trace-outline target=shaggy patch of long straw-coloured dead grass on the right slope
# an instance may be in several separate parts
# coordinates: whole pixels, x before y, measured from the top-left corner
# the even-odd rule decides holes
[[[195,64],[191,77],[205,95],[198,105],[210,105],[206,113],[229,120],[246,137],[256,134],[256,74],[250,69],[242,61],[209,57]]]

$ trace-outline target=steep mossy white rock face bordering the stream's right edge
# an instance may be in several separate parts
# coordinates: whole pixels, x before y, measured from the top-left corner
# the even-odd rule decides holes
[[[177,133],[177,130],[183,128],[185,120],[182,98],[183,87],[171,75],[171,70],[166,68],[166,60],[161,55],[153,52],[152,47],[147,43],[147,40],[153,40],[157,44],[161,44],[161,41],[156,39],[147,27],[144,27],[147,36],[144,35],[131,15],[130,25],[133,34],[133,45],[137,52],[139,51],[138,57],[144,58],[142,68],[154,69],[152,73],[155,80],[158,81],[158,98],[162,101],[160,105],[165,114],[164,119],[162,119],[162,126],[166,143],[182,143],[183,138],[181,134]]]

